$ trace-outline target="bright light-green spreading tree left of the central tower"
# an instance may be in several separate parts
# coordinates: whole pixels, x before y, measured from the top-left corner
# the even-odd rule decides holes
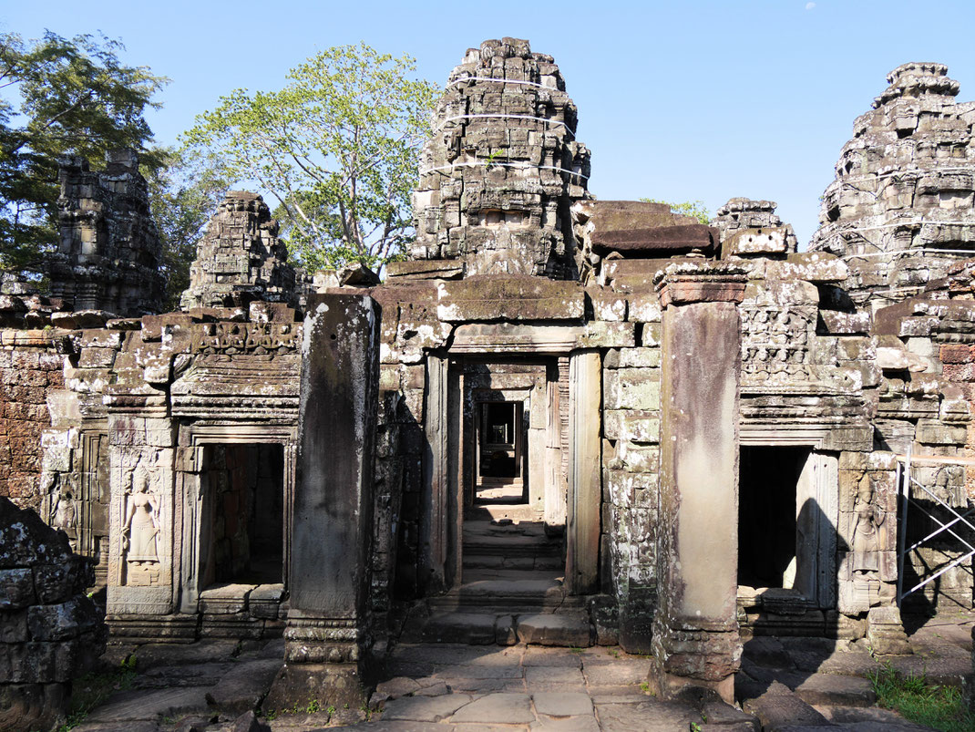
[[[277,92],[220,99],[185,135],[240,183],[277,201],[283,235],[309,269],[394,259],[411,239],[409,196],[436,87],[412,59],[366,44],[323,51]]]

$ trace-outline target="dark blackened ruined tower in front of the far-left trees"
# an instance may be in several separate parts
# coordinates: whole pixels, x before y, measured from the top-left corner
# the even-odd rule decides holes
[[[134,150],[109,152],[104,170],[83,158],[60,167],[60,244],[48,259],[51,295],[75,310],[159,312],[166,277],[148,189]]]

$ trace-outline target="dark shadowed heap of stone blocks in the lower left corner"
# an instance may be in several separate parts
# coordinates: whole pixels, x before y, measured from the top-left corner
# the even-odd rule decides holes
[[[0,498],[0,729],[63,718],[71,680],[104,650],[104,623],[85,594],[93,582],[64,534]]]

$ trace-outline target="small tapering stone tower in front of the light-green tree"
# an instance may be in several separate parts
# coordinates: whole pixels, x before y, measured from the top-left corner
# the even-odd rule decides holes
[[[179,306],[230,307],[254,300],[292,303],[294,270],[264,199],[232,190],[216,209],[189,270]]]

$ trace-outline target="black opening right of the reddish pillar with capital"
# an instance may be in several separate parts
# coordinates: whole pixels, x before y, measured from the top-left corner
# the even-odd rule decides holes
[[[796,495],[807,447],[742,446],[738,480],[738,584],[792,588]]]

